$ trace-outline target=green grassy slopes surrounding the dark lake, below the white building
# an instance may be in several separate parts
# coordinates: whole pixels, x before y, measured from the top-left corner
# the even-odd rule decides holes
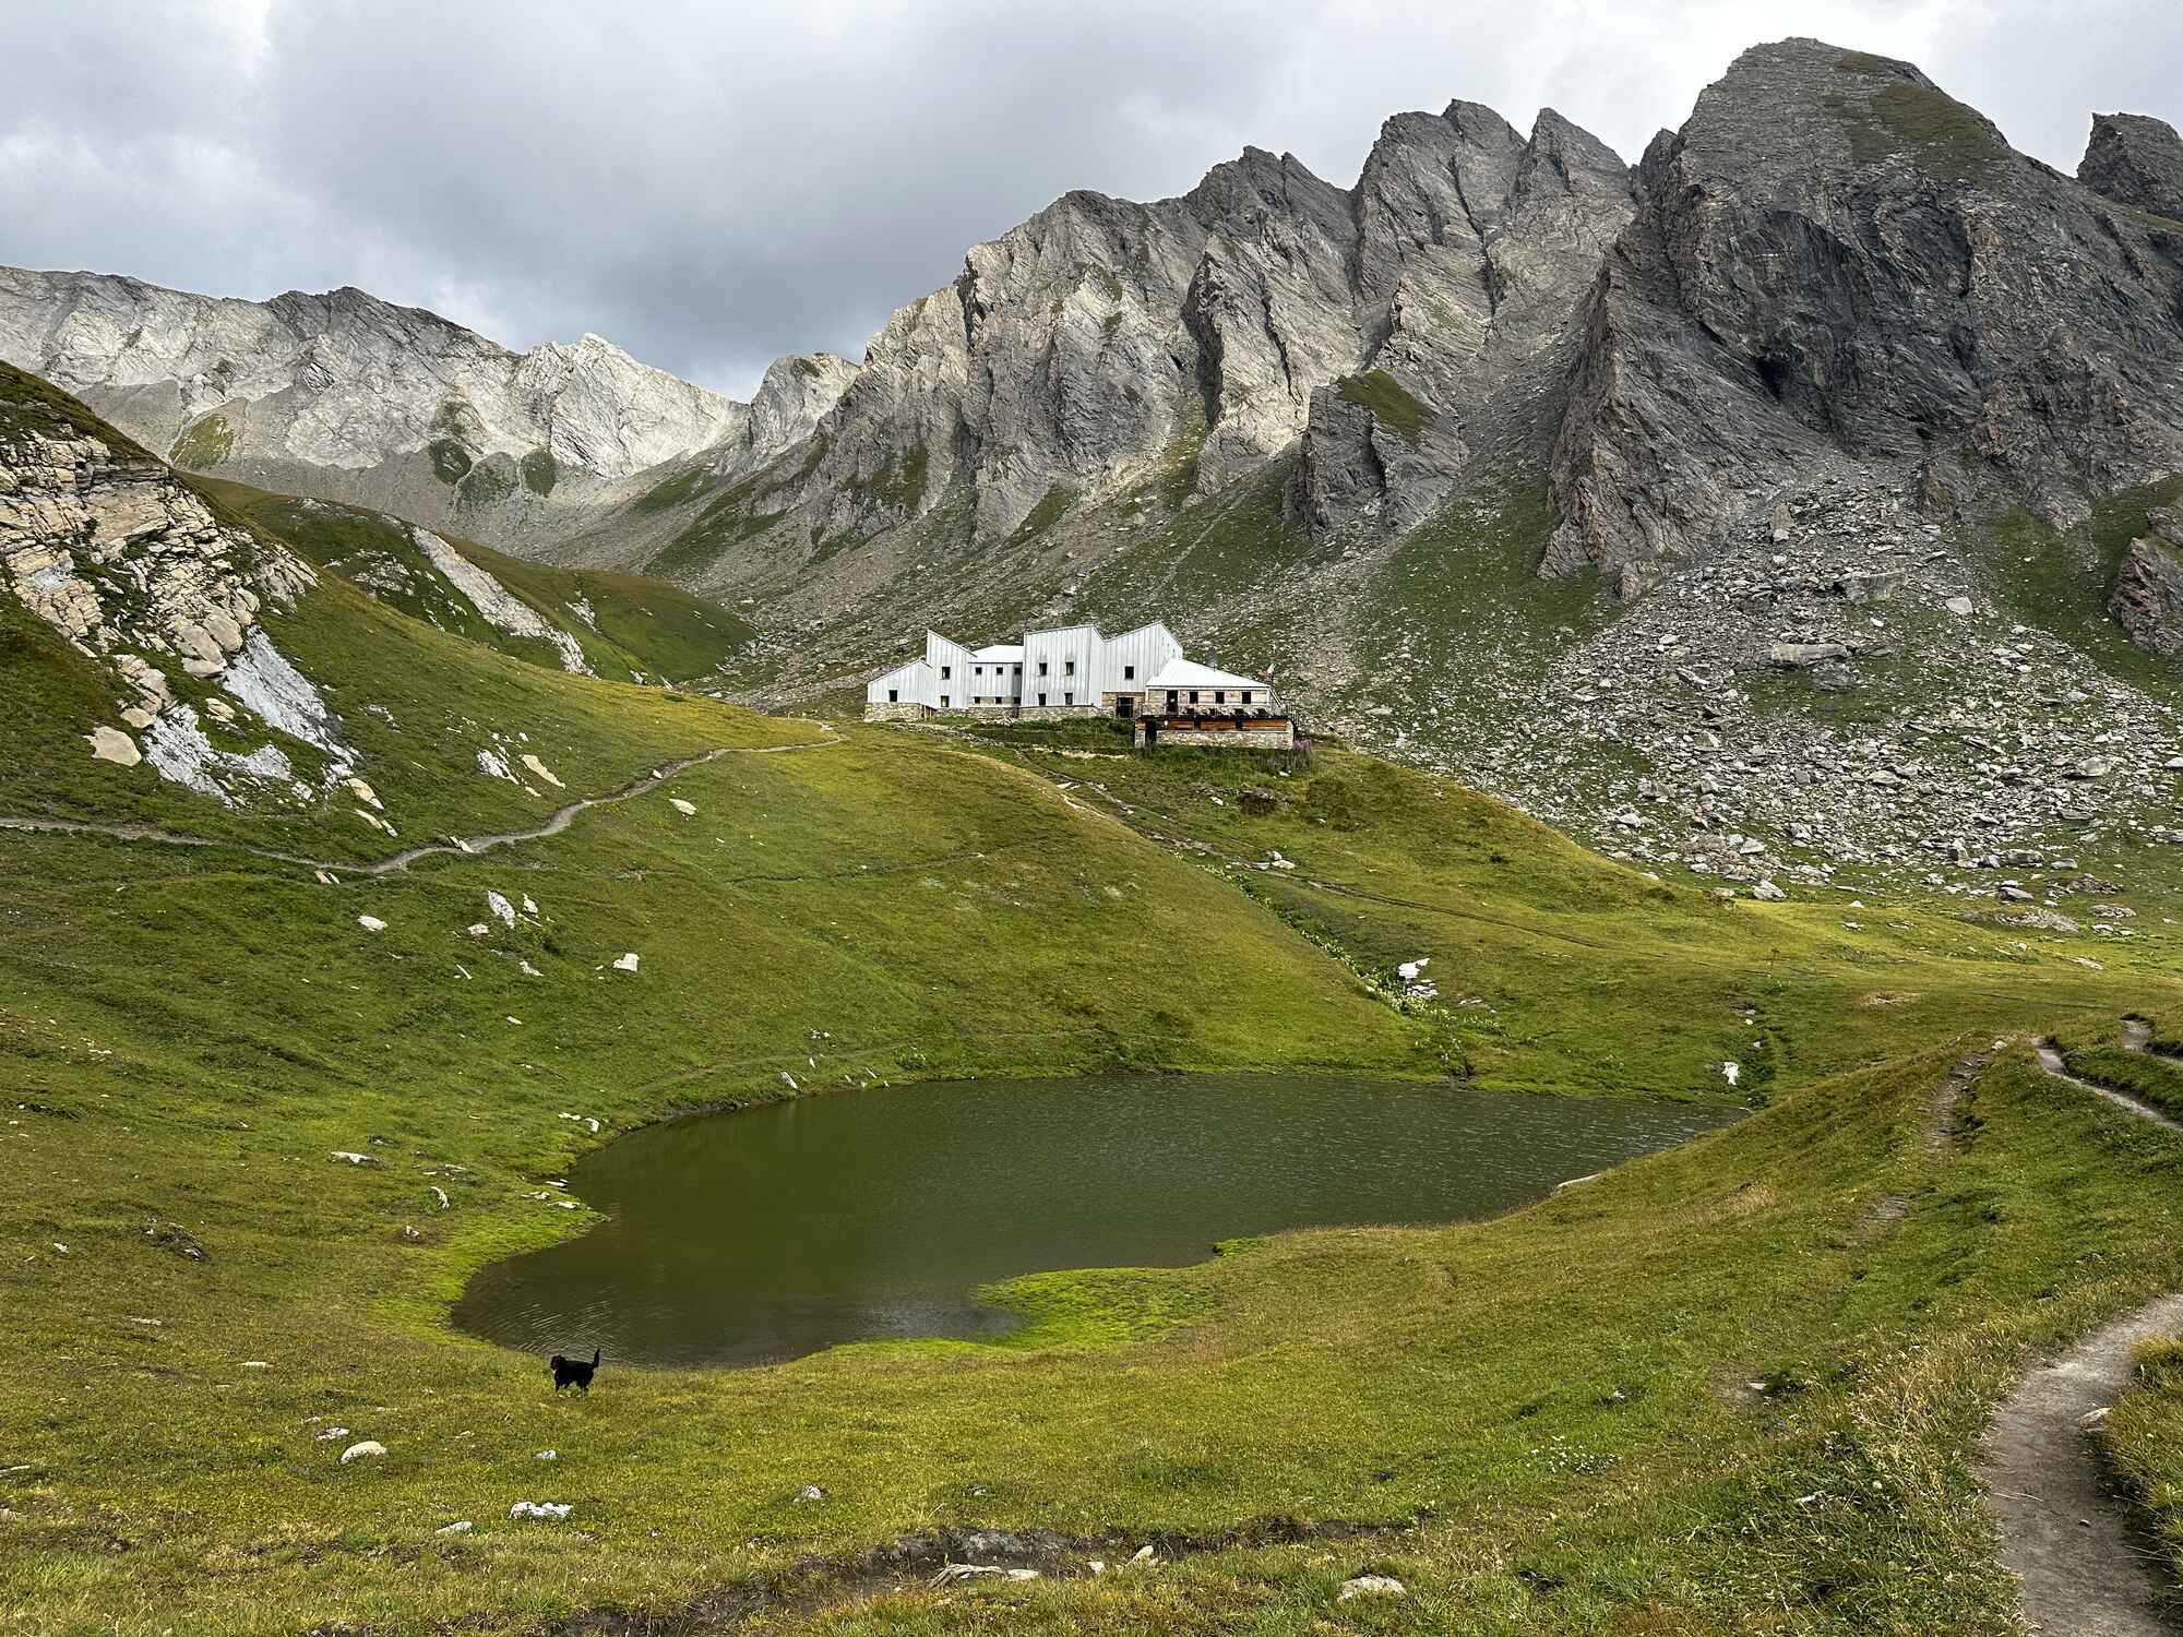
[[[2176,1144],[2024,1048],[2183,1017],[2159,860],[2126,941],[1720,901],[1343,749],[762,718],[321,576],[266,626],[389,838],[345,794],[94,762],[105,670],[0,611],[0,818],[103,827],[0,827],[7,1630],[1989,1633],[1987,1406],[2183,1279]],[[439,836],[476,851],[369,873]],[[1004,1347],[554,1399],[445,1323],[474,1268],[583,1231],[546,1179],[642,1122],[1109,1065],[1753,1118],[1495,1222],[1015,1281]],[[330,1427],[389,1454],[343,1467]],[[967,1526],[1050,1530],[1070,1574],[934,1591],[869,1556]],[[1410,1596],[1336,1602],[1360,1569]]]

